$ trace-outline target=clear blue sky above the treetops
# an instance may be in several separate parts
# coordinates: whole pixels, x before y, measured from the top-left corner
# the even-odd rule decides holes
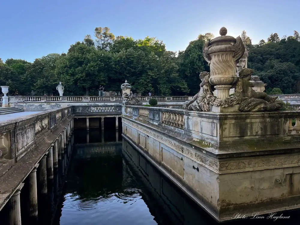
[[[115,36],[146,36],[164,41],[167,50],[184,50],[199,33],[219,36],[242,30],[256,44],[274,32],[281,38],[300,32],[300,0],[12,0],[0,1],[0,58],[33,62],[109,27]]]

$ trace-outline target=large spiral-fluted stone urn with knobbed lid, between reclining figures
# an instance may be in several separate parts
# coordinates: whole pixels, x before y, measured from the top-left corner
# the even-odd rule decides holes
[[[229,97],[229,89],[235,84],[236,64],[245,52],[240,37],[226,36],[227,29],[220,29],[220,37],[207,41],[203,46],[203,56],[210,66],[209,82],[217,90],[217,98]]]

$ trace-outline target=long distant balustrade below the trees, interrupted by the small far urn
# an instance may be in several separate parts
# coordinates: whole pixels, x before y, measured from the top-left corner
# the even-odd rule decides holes
[[[158,102],[179,101],[192,99],[192,96],[138,96],[140,101],[155,98]],[[9,96],[9,102],[122,102],[121,96]]]

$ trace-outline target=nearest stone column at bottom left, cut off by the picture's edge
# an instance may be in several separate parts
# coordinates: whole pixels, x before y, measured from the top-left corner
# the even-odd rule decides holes
[[[9,199],[9,222],[12,225],[21,225],[20,193],[24,183],[21,183]]]

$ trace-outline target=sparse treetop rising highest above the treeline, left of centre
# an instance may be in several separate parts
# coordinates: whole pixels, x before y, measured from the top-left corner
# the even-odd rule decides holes
[[[97,38],[97,48],[104,51],[108,51],[113,45],[113,41],[115,40],[115,35],[113,35],[113,33],[110,33],[110,29],[108,27],[96,27],[95,37]]]

